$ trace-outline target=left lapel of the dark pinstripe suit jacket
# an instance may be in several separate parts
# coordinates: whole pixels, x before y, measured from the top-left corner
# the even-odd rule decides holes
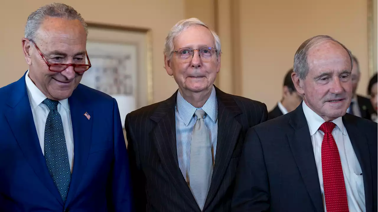
[[[176,96],[177,91],[172,97],[164,101],[150,117],[157,123],[150,132],[150,137],[155,143],[163,167],[172,180],[171,183],[179,187],[179,193],[191,203],[192,209],[198,210],[198,204],[178,166],[175,124]]]

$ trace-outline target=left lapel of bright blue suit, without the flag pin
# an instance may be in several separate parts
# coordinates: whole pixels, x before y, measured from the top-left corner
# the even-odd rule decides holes
[[[16,82],[15,89],[9,97],[8,111],[5,113],[9,126],[23,152],[26,160],[34,170],[51,194],[53,194],[60,204],[63,205],[62,198],[56,188],[53,179],[48,172],[45,157],[39,144],[36,126],[34,124],[33,113],[26,89],[25,75]]]

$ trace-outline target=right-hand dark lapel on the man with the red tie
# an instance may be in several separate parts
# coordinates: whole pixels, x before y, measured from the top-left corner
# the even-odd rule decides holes
[[[357,156],[358,162],[361,166],[363,179],[364,179],[364,190],[365,190],[365,201],[366,201],[366,211],[373,211],[373,190],[372,190],[372,169],[370,164],[370,154],[369,145],[367,143],[367,138],[361,133],[361,130],[357,126],[357,117],[349,114],[345,114],[342,117],[345,128],[347,129],[350,142],[352,143],[353,150]],[[358,135],[358,136],[357,136]]]

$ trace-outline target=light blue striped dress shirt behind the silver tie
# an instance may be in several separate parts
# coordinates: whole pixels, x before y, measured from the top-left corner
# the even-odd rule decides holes
[[[218,103],[215,95],[215,88],[213,86],[209,99],[201,108],[205,112],[204,122],[209,130],[211,152],[213,157],[213,164],[215,161],[215,150],[217,149],[217,135],[218,135]],[[190,166],[190,145],[192,140],[192,132],[194,124],[197,121],[194,112],[197,110],[193,105],[187,102],[177,92],[176,98],[176,143],[177,143],[177,157],[178,166],[189,183],[189,166]]]

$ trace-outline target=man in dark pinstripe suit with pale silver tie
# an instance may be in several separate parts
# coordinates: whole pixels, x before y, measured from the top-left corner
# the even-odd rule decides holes
[[[138,212],[230,210],[245,133],[267,110],[213,85],[220,52],[219,37],[197,18],[169,32],[164,62],[178,91],[125,119]]]

